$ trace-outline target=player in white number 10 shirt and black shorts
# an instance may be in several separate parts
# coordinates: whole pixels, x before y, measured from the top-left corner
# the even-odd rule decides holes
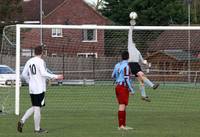
[[[22,132],[26,120],[34,114],[35,133],[48,133],[47,130],[40,127],[41,107],[45,106],[46,79],[63,79],[63,75],[50,74],[46,70],[46,64],[42,59],[43,48],[35,48],[35,56],[29,59],[23,69],[22,76],[29,84],[29,94],[32,106],[25,112],[18,122],[17,130]]]

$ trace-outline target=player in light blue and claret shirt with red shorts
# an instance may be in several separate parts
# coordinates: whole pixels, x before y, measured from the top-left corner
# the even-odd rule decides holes
[[[126,126],[126,107],[128,105],[129,93],[135,93],[130,81],[130,68],[128,65],[129,54],[124,51],[121,54],[122,61],[114,67],[112,78],[115,79],[115,93],[119,103],[118,108],[118,124],[119,130],[129,130],[131,127]]]

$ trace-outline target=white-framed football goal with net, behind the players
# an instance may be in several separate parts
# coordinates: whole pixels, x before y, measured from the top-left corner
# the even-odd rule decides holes
[[[16,52],[9,52],[16,60],[15,114],[24,112],[30,104],[27,86],[18,84],[20,67],[34,56],[34,47],[41,44],[46,49],[44,60],[49,71],[64,75],[62,81],[48,82],[47,111],[91,111],[98,117],[97,113],[116,110],[111,73],[121,60],[120,53],[127,50],[129,30],[129,26],[17,25],[13,48]],[[149,62],[148,66],[141,64],[142,69],[160,87],[153,90],[146,86],[146,94],[152,100],[147,105],[132,76],[136,95],[130,98],[130,107],[134,108],[130,111],[199,111],[199,34],[199,27],[133,28],[133,41]],[[2,52],[7,53],[5,50]]]

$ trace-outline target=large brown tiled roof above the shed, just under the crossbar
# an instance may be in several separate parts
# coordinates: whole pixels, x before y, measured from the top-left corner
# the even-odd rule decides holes
[[[188,50],[188,35],[186,30],[163,31],[159,37],[149,45],[148,51],[155,50]],[[190,49],[200,51],[200,31],[190,31]]]

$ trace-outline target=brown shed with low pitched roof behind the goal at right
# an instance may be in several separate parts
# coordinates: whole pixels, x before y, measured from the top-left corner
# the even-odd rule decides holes
[[[146,59],[151,63],[149,76],[159,81],[188,81],[188,53],[183,50],[160,50]],[[200,81],[200,59],[190,56],[190,79]]]

